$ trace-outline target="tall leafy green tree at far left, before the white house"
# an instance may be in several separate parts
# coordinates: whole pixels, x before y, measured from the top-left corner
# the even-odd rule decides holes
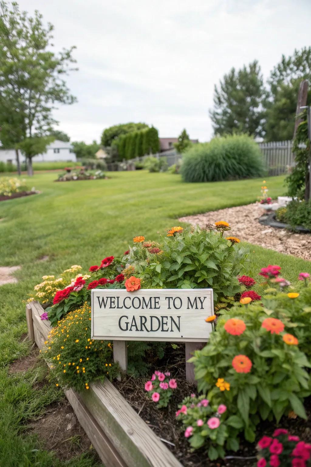
[[[0,1],[0,126],[3,122],[5,141],[28,157],[29,174],[33,172],[34,150],[44,147],[57,123],[52,117],[55,102],[76,101],[63,79],[76,62],[74,47],[57,54],[51,51],[53,29],[50,23],[43,26],[38,11],[31,17],[21,12],[17,3],[9,9]],[[42,145],[38,141],[41,137]]]

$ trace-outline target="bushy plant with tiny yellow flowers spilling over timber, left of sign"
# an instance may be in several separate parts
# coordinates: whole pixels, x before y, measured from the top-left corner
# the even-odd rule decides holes
[[[89,389],[91,382],[118,373],[111,342],[92,340],[90,329],[91,309],[85,303],[69,311],[48,334],[42,353],[62,386]]]

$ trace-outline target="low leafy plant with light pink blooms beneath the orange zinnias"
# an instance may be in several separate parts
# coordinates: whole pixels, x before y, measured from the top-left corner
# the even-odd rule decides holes
[[[237,437],[239,428],[243,426],[242,421],[236,416],[228,416],[225,406],[220,406],[214,401],[208,401],[205,396],[186,397],[180,404],[177,412],[177,420],[189,430],[192,427],[191,436],[187,439],[193,449],[204,446],[210,460],[216,460],[225,456],[225,449],[237,451],[239,439]],[[187,410],[185,410],[185,407]],[[218,412],[220,410],[221,413]],[[223,412],[223,410],[225,410]],[[220,424],[216,428],[207,425],[208,420],[216,418]],[[198,425],[198,420],[203,422]]]

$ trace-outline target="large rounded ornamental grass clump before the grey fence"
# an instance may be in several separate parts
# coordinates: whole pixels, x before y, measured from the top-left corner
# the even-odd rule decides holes
[[[247,136],[228,135],[188,149],[180,169],[185,182],[216,182],[263,175],[263,156]]]

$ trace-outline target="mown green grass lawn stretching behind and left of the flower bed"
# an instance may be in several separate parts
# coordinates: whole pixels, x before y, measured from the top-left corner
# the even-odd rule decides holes
[[[180,216],[253,202],[262,185],[262,179],[186,184],[176,175],[145,171],[109,175],[108,180],[69,183],[54,183],[55,173],[35,175],[29,187],[41,194],[0,203],[0,266],[22,266],[18,284],[0,287],[0,459],[6,459],[7,467],[65,465],[36,451],[35,440],[21,439],[27,420],[60,399],[61,391],[42,383],[40,390],[34,389],[34,381],[46,381],[43,368],[8,375],[8,363],[29,352],[28,342],[20,339],[26,331],[22,300],[41,276],[59,274],[72,264],[84,269],[119,255],[134,235],[157,240],[179,224]],[[283,183],[283,177],[267,178],[269,195],[284,194]],[[269,263],[282,266],[291,281],[301,271],[311,273],[310,262],[253,245],[250,250],[247,272],[252,276]],[[48,261],[40,261],[43,256]],[[86,467],[93,461],[80,458],[73,465]]]

